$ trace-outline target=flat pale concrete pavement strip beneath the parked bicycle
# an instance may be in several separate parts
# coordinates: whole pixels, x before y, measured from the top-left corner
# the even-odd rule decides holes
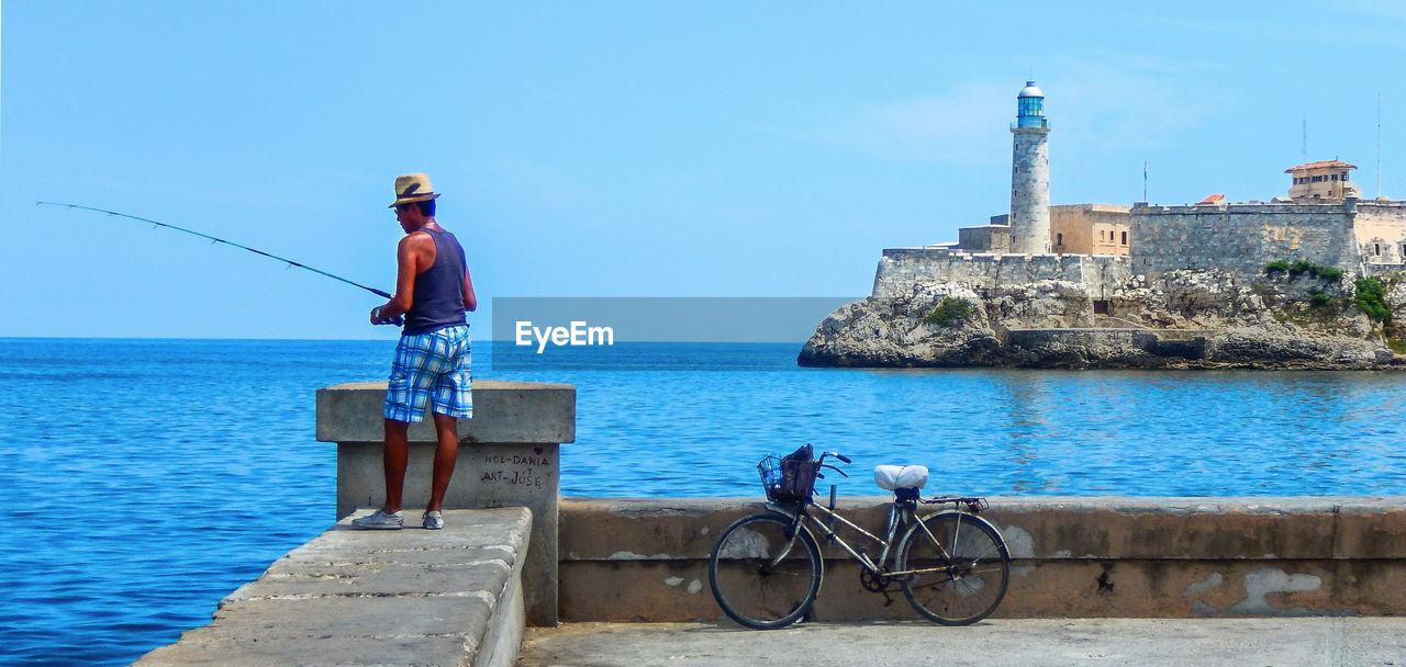
[[[530,629],[517,667],[1399,667],[1403,656],[1406,618],[567,623]]]

